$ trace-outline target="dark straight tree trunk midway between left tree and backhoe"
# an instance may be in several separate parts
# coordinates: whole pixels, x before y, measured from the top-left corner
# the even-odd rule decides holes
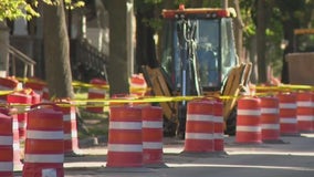
[[[127,94],[129,63],[127,60],[127,15],[128,0],[114,0],[103,3],[109,13],[109,60],[108,60],[108,80],[111,85],[111,95]],[[129,3],[128,3],[129,4]],[[132,6],[132,4],[129,4]]]

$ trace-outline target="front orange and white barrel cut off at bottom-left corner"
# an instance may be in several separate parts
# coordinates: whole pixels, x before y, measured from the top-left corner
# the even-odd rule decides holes
[[[13,177],[12,118],[0,113],[0,176]]]

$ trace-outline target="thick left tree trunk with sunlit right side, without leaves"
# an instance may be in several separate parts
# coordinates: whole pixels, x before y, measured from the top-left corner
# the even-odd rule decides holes
[[[43,18],[45,79],[50,96],[72,98],[72,73],[63,0],[60,0],[57,6],[44,3]]]

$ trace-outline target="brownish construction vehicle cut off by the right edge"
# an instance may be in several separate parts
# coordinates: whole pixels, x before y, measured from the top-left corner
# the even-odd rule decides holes
[[[289,83],[314,85],[314,29],[295,29],[293,33],[293,52],[285,55]]]

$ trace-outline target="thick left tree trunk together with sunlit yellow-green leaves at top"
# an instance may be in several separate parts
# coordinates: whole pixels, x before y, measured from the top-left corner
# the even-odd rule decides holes
[[[39,17],[38,4],[43,3],[44,59],[46,82],[54,97],[72,97],[72,75],[70,66],[69,39],[65,24],[65,8],[84,6],[71,0],[1,0],[0,20]],[[64,7],[65,6],[65,7]]]

